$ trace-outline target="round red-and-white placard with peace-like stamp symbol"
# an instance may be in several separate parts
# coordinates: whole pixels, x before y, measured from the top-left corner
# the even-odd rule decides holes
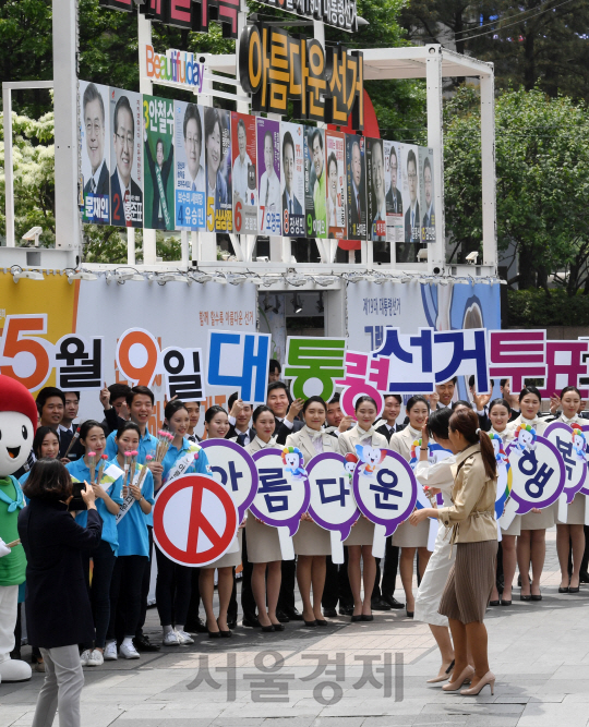
[[[200,568],[231,547],[238,530],[236,504],[223,485],[202,474],[177,477],[159,490],[154,540],[181,566]]]

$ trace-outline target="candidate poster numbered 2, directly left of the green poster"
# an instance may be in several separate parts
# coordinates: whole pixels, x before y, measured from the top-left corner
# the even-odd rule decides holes
[[[143,227],[143,97],[110,88],[110,223]]]

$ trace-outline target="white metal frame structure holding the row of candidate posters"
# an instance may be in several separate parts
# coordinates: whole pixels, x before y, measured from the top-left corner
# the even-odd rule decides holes
[[[247,22],[247,7],[242,0],[239,13],[239,31]],[[77,130],[77,8],[75,0],[53,0],[53,63],[56,82],[24,82],[20,84],[3,84],[4,89],[4,138],[10,140],[10,87],[55,87],[55,119],[56,119],[56,249],[68,253],[67,267],[77,267],[81,254],[81,216],[77,207],[79,184],[79,130]],[[147,77],[145,69],[145,44],[151,43],[151,22],[139,14],[139,57],[140,57],[140,92],[153,93],[153,83]],[[314,22],[314,36],[324,41],[324,27],[320,21]],[[239,44],[239,41],[238,41]],[[253,262],[255,238],[253,235],[231,235],[237,260],[217,260],[216,235],[199,231],[191,233],[192,256],[190,256],[188,232],[181,233],[181,259],[161,264],[156,260],[155,230],[143,230],[144,263],[135,264],[134,230],[128,232],[128,265],[133,266],[140,274],[153,272],[190,272],[197,267],[203,274],[224,277],[249,274],[267,276],[263,284],[273,290],[289,287],[289,272],[296,266],[297,272],[308,276],[305,287],[315,288],[310,276],[334,276],[333,283],[327,287],[338,288],[341,276],[358,275],[354,270],[362,268],[364,275],[372,276],[376,281],[384,277],[398,277],[404,274],[425,276],[429,281],[436,278],[450,281],[453,278],[462,278],[476,281],[479,279],[496,280],[496,219],[495,219],[495,136],[494,136],[494,74],[493,65],[472,58],[460,56],[446,50],[438,45],[428,45],[411,48],[382,48],[365,49],[364,58],[365,80],[392,78],[425,78],[426,81],[426,114],[428,114],[428,146],[433,148],[434,155],[434,196],[438,210],[436,218],[435,242],[428,245],[426,262],[397,265],[395,262],[395,245],[392,244],[392,263],[374,264],[372,259],[372,243],[363,242],[361,250],[361,266],[334,264],[336,241],[317,241],[321,254],[318,264],[299,264],[291,260],[290,239],[271,238],[271,256],[266,262]],[[212,105],[213,96],[223,95],[214,90],[213,82],[217,74],[237,86],[239,111],[249,111],[243,92],[237,80],[236,54],[211,56],[205,59],[205,90],[199,96],[202,105]],[[443,159],[443,119],[442,119],[442,78],[448,76],[476,76],[480,80],[481,94],[481,172],[482,172],[482,227],[483,227],[483,259],[476,266],[446,265],[445,251],[445,220],[444,220],[444,159]],[[221,77],[219,81],[221,81]],[[8,93],[7,93],[8,92]],[[227,94],[225,94],[227,96]],[[279,118],[279,117],[276,117]],[[10,143],[5,144],[7,170],[7,244],[12,246],[12,254],[0,247],[0,267],[7,262],[23,265],[25,251],[19,257],[19,250],[14,249],[14,209],[12,187],[12,153]],[[51,251],[38,249],[41,255],[41,268],[49,267]],[[55,251],[53,251],[55,252]],[[16,257],[15,257],[16,255]],[[190,259],[192,257],[192,259]],[[47,259],[47,264],[44,264]],[[56,258],[53,257],[53,260]],[[20,262],[22,260],[22,262]],[[62,265],[61,267],[65,267]],[[109,270],[118,265],[84,266],[87,269]],[[401,269],[402,268],[402,269]],[[274,276],[274,278],[273,278]],[[274,283],[271,283],[271,279]],[[420,278],[421,279],[421,278]]]

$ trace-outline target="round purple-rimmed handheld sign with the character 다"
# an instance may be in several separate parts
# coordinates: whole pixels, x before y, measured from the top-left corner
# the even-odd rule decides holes
[[[360,517],[353,499],[352,474],[348,461],[337,452],[323,452],[308,463],[311,487],[309,514],[332,538],[332,560],[344,562],[344,541]]]

